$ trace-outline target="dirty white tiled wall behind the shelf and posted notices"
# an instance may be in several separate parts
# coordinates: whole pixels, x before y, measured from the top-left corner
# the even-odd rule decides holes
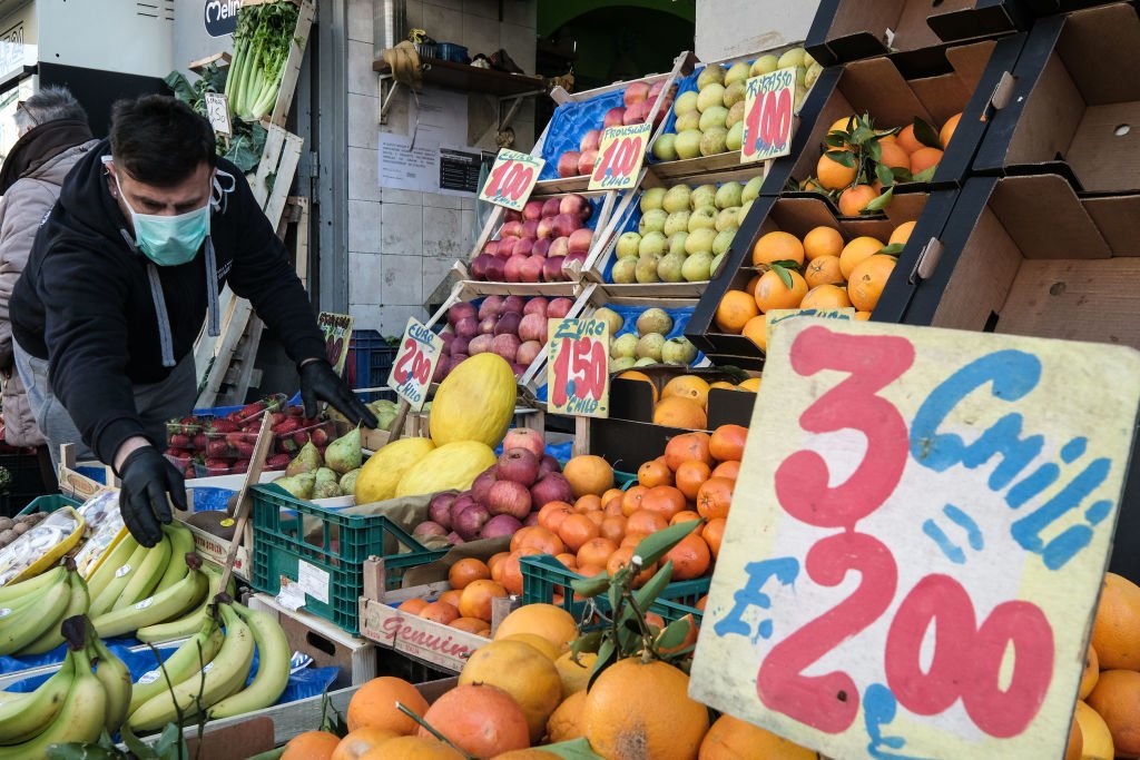
[[[475,235],[473,197],[381,188],[376,182],[378,132],[408,132],[407,91],[398,93],[388,123],[377,123],[373,64],[373,2],[348,0],[349,34],[349,308],[357,328],[399,335]],[[535,70],[537,0],[408,0],[410,27],[457,42],[473,54],[506,49],[524,71]],[[495,101],[469,95],[469,144],[495,150]],[[534,144],[534,104],[515,117],[516,149]]]

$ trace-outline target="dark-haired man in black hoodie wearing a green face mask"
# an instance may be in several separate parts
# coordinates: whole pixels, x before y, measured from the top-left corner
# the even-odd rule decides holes
[[[376,418],[325,359],[308,294],[209,123],[163,96],[120,101],[111,138],[84,156],[44,220],[11,300],[16,367],[49,443],[82,438],[122,480],[131,534],[154,546],[181,473],[163,424],[196,397],[193,346],[229,283],[285,344],[306,415],[328,401]],[[76,435],[78,428],[78,435]]]

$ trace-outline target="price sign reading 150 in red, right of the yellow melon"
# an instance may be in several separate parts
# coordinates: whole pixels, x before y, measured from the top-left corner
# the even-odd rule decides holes
[[[547,410],[610,416],[610,326],[602,319],[548,319]]]

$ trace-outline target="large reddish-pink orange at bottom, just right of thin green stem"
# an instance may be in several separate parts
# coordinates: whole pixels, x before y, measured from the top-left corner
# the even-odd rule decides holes
[[[527,649],[536,660],[543,660],[554,668],[546,657],[526,644],[515,641],[514,646]],[[472,659],[486,648],[475,649]],[[471,661],[467,662],[470,664]],[[510,694],[494,685],[463,683],[463,676],[459,676],[459,686],[435,700],[424,716],[432,728],[463,752],[477,758],[494,758],[502,752],[530,746],[526,712]],[[432,735],[421,727],[420,737],[432,738]]]

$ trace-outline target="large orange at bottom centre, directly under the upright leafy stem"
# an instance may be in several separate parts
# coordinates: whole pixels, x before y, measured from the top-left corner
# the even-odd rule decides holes
[[[693,760],[709,713],[689,697],[683,671],[633,657],[618,660],[597,677],[586,693],[581,726],[603,758]]]

